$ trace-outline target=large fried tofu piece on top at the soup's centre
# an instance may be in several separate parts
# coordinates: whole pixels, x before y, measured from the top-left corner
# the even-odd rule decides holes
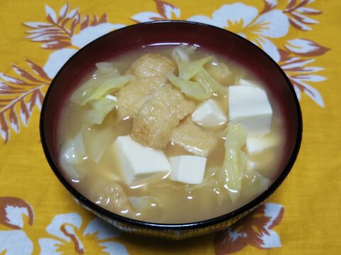
[[[195,103],[167,83],[141,106],[131,137],[145,147],[163,149],[171,140],[173,129],[194,109]]]

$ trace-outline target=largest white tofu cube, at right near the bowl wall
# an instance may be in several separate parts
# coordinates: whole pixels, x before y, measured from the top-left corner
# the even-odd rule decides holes
[[[269,133],[272,108],[265,91],[253,86],[229,86],[229,121],[240,123],[251,135]]]

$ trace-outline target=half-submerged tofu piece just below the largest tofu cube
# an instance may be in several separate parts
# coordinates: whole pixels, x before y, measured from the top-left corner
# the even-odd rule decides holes
[[[279,143],[278,135],[264,135],[261,137],[248,136],[247,137],[247,152],[249,154],[263,152],[264,149],[274,147]]]

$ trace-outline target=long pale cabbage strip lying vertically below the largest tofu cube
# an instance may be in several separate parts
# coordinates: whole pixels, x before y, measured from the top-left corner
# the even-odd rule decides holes
[[[247,132],[240,124],[231,124],[226,131],[224,163],[217,176],[220,186],[229,192],[232,202],[235,202],[240,196],[247,162],[247,155],[242,151],[247,141]]]

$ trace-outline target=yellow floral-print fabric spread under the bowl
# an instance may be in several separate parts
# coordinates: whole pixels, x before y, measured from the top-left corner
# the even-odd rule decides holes
[[[82,20],[87,14],[93,20],[94,15],[99,18],[102,14],[107,13],[109,23],[129,26],[136,23],[136,18],[133,18],[136,17],[136,14],[144,12],[152,12],[155,15],[150,13],[148,15],[161,16],[162,19],[187,20],[193,16],[206,16],[217,22],[218,19],[215,19],[215,16],[219,16],[221,13],[218,10],[224,10],[222,9],[224,5],[227,9],[234,6],[233,8],[238,7],[238,10],[241,11],[234,15],[242,15],[243,11],[247,14],[244,15],[244,23],[232,21],[231,13],[229,16],[227,14],[220,16],[220,19],[226,21],[230,30],[235,33],[243,33],[249,40],[254,40],[261,46],[264,46],[261,41],[269,40],[276,48],[298,52],[296,55],[292,53],[291,57],[298,57],[299,61],[314,60],[314,62],[304,64],[304,67],[307,68],[305,69],[306,73],[287,71],[287,74],[292,77],[296,75],[296,78],[293,79],[301,79],[301,81],[310,79],[310,81],[303,82],[316,90],[314,92],[315,100],[308,96],[311,88],[305,86],[305,91],[301,91],[300,100],[303,112],[301,151],[288,178],[278,188],[274,196],[266,201],[269,208],[278,210],[278,213],[273,216],[281,215],[281,217],[278,216],[276,219],[274,228],[268,229],[272,234],[271,247],[260,249],[261,245],[251,244],[251,241],[247,241],[249,243],[240,247],[224,246],[222,245],[224,240],[221,238],[227,237],[226,233],[220,233],[220,236],[210,234],[179,242],[166,242],[120,233],[113,228],[110,230],[112,233],[108,239],[99,238],[96,232],[98,228],[93,227],[96,223],[94,215],[75,203],[45,160],[38,132],[40,114],[38,106],[34,106],[28,125],[24,125],[21,118],[23,108],[21,101],[18,100],[18,103],[13,106],[12,113],[10,107],[13,101],[20,99],[19,97],[30,89],[45,84],[41,88],[42,95],[48,89],[50,79],[37,76],[26,60],[44,67],[52,59],[53,52],[57,52],[58,49],[46,50],[40,47],[44,42],[32,42],[30,38],[25,39],[27,35],[31,34],[28,31],[34,29],[29,28],[27,23],[48,22],[46,21],[46,11],[51,13],[51,10],[54,10],[58,16],[65,1],[1,0],[0,88],[4,88],[4,84],[7,84],[23,87],[23,91],[17,94],[5,94],[6,88],[0,89],[0,120],[1,114],[4,115],[3,119],[6,119],[2,120],[2,123],[0,122],[0,130],[2,128],[2,134],[5,137],[4,123],[6,121],[6,124],[9,125],[6,130],[10,133],[6,143],[0,136],[0,254],[50,254],[53,251],[64,251],[64,254],[82,254],[83,251],[85,254],[105,254],[104,246],[99,246],[105,242],[111,242],[114,247],[107,249],[111,254],[119,254],[119,252],[121,254],[224,254],[232,251],[237,251],[239,254],[337,254],[340,252],[341,105],[339,95],[341,89],[339,68],[341,60],[339,56],[341,47],[339,42],[341,37],[338,31],[341,21],[339,13],[341,1],[291,0],[278,2],[278,5],[275,4],[275,7],[266,13],[271,12],[271,15],[278,16],[278,18],[282,15],[295,18],[291,16],[290,8],[297,7],[299,4],[302,6],[298,11],[305,12],[298,13],[296,19],[291,20],[288,25],[288,33],[285,35],[278,35],[275,33],[276,31],[272,31],[272,34],[268,36],[264,30],[259,35],[259,33],[253,33],[259,28],[256,25],[250,25],[261,21],[260,17],[265,17],[264,26],[272,26],[269,30],[279,29],[280,26],[276,25],[274,16],[270,16],[270,14],[265,16],[266,13],[261,13],[266,3],[276,3],[275,0],[219,0],[212,2],[204,0],[165,0],[165,2],[70,0],[68,10],[70,13],[70,10],[78,8]],[[289,5],[293,4],[293,7],[289,6],[288,8],[288,2]],[[236,5],[237,3],[239,5]],[[169,4],[173,5],[171,16],[161,15],[157,6],[163,5],[171,8]],[[247,17],[251,15],[251,12],[247,12],[251,10],[250,7],[252,10],[256,10],[256,16],[253,21],[248,21],[247,28],[243,28],[247,23]],[[312,11],[312,9],[317,11]],[[306,12],[310,12],[310,14]],[[50,15],[53,16],[53,14]],[[301,21],[304,21],[301,22],[301,30],[297,28],[300,18]],[[273,25],[266,23],[268,21]],[[281,21],[281,24],[286,22]],[[295,23],[296,28],[294,27]],[[80,33],[80,26],[77,25],[75,34]],[[299,45],[302,43],[305,43],[305,48],[303,53],[302,51],[300,53]],[[264,47],[269,48],[270,46],[268,44]],[[77,50],[79,46],[69,45],[67,48]],[[275,54],[276,50],[272,52]],[[279,63],[283,68],[286,66],[283,64],[283,58]],[[291,62],[291,64],[293,63]],[[303,64],[301,64],[302,66]],[[35,86],[13,85],[14,81],[9,77],[25,80],[21,75],[22,72],[21,74],[15,72],[16,67],[21,67],[28,73],[34,74],[35,77],[39,77],[40,81],[33,82],[36,84]],[[308,67],[321,67],[322,69],[315,69],[317,72],[312,72]],[[288,69],[288,67],[286,68]],[[302,75],[311,75],[311,77],[302,77]],[[312,77],[312,75],[318,77]],[[317,96],[318,94],[320,94],[320,98]],[[31,96],[32,93],[23,99],[23,104],[28,108]],[[12,116],[12,120],[9,115]],[[14,128],[11,127],[11,122]],[[18,132],[15,131],[16,123],[20,125]],[[67,225],[67,222],[70,224]],[[249,223],[245,220],[244,224]],[[76,243],[60,230],[67,229],[67,226],[71,226],[67,233],[74,233],[80,239],[77,244],[82,244],[81,246],[75,245]],[[250,228],[259,232],[256,227]],[[92,233],[87,234],[87,229],[92,229]],[[279,244],[275,242],[277,237],[280,240]],[[54,243],[49,246],[48,242]]]

